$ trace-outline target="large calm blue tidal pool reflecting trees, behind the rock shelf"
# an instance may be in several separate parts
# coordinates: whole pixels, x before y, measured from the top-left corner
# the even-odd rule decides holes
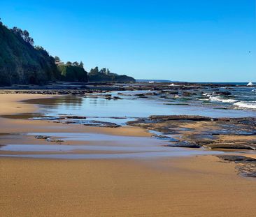
[[[131,91],[123,91],[130,94]],[[140,91],[136,91],[141,93]],[[143,91],[145,92],[145,91]],[[116,92],[112,96],[118,96]],[[72,114],[89,117],[91,119],[102,118],[115,124],[125,124],[124,119],[112,119],[111,117],[138,118],[154,115],[193,114],[208,117],[256,117],[256,111],[248,110],[222,110],[216,107],[199,105],[198,102],[191,105],[165,105],[166,100],[149,96],[148,98],[135,98],[134,96],[120,96],[120,100],[106,100],[104,97],[95,96],[59,96],[48,100],[31,100],[40,107],[40,112],[47,116],[56,117],[59,114]],[[104,119],[103,119],[104,118]]]

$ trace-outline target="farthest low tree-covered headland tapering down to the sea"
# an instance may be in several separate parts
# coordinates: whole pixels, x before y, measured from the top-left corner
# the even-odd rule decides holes
[[[98,67],[90,70],[88,80],[90,82],[135,82],[133,77],[111,73],[108,68],[102,68],[99,70]]]

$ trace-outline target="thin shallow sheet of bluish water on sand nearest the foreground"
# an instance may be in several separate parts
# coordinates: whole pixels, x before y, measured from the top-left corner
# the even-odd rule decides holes
[[[27,133],[22,136],[46,135],[64,141],[82,141],[81,144],[6,144],[0,151],[10,151],[13,154],[0,154],[1,157],[25,158],[69,158],[69,159],[96,159],[96,158],[154,158],[168,156],[190,156],[201,154],[220,154],[220,151],[204,151],[204,149],[183,149],[164,147],[165,141],[152,137],[131,137],[105,135],[100,133]],[[17,137],[17,141],[20,138]],[[83,142],[93,142],[83,144]],[[111,143],[111,145],[109,145]],[[88,154],[79,154],[79,151],[88,151]],[[90,151],[97,151],[99,154]],[[102,151],[102,154],[101,154]],[[106,153],[107,151],[107,153]],[[26,152],[26,154],[22,154]],[[31,154],[28,154],[31,152]],[[32,154],[33,152],[33,154]],[[38,152],[38,154],[34,154]],[[44,154],[40,154],[43,152]],[[45,154],[49,152],[49,154]],[[56,154],[59,152],[59,154]],[[61,152],[61,153],[60,153]],[[1,153],[1,152],[0,152]],[[52,154],[55,153],[55,154]]]

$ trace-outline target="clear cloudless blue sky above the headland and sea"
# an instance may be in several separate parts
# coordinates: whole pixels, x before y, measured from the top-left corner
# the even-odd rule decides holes
[[[8,27],[63,61],[135,78],[256,81],[255,0],[0,0]]]

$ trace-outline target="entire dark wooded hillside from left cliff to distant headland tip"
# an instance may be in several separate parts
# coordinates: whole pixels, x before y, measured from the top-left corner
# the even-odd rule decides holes
[[[108,68],[93,68],[89,75],[83,62],[63,63],[51,57],[27,30],[8,29],[0,19],[0,85],[45,84],[50,81],[66,82],[135,82],[133,77],[111,73]]]

